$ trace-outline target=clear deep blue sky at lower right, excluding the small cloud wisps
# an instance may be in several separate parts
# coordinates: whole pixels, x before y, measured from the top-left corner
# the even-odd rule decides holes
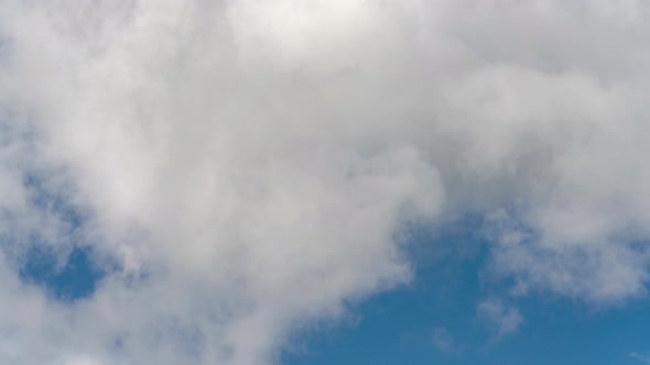
[[[644,364],[650,311],[646,300],[598,310],[549,295],[514,302],[524,316],[500,341],[476,316],[481,285],[476,262],[426,268],[413,287],[372,298],[340,329],[307,335],[308,353],[289,364]],[[448,266],[458,266],[449,268]],[[453,274],[449,273],[453,272]],[[449,275],[451,274],[451,275]],[[441,283],[442,281],[442,283]],[[456,283],[448,283],[456,281]],[[448,329],[452,349],[434,345]]]

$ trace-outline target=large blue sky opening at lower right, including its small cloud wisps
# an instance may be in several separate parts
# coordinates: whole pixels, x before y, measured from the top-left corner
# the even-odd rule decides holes
[[[414,234],[421,259],[412,284],[353,308],[338,329],[301,332],[284,363],[642,364],[635,350],[650,338],[644,300],[596,308],[548,291],[517,295],[516,283],[490,275],[481,226],[470,217],[444,233]],[[430,250],[443,243],[457,248]]]

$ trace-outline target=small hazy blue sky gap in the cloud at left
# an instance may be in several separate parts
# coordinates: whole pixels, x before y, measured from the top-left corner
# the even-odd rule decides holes
[[[18,275],[24,284],[40,287],[46,295],[59,301],[75,301],[91,296],[98,283],[115,265],[95,258],[89,242],[79,232],[86,224],[89,212],[75,204],[73,187],[59,169],[39,169],[23,174],[23,187],[28,203],[35,211],[57,222],[57,241],[41,232],[28,234],[28,242],[19,234],[11,242],[4,237],[4,251],[13,251]]]

